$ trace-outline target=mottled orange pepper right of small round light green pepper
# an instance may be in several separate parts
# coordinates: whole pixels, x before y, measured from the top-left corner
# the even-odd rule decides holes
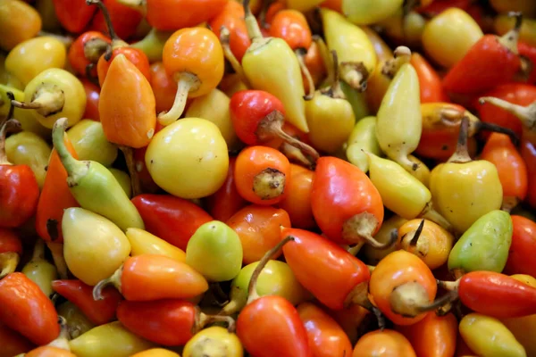
[[[274,245],[279,243],[281,227],[290,227],[289,213],[281,208],[249,205],[236,212],[227,225],[233,228],[242,242],[245,264],[258,262]],[[273,255],[273,259],[281,253]]]

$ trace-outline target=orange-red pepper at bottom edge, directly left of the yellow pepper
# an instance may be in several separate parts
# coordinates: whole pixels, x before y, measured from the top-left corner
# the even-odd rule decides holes
[[[430,311],[423,320],[395,329],[406,336],[418,356],[452,357],[456,352],[457,325],[452,313],[438,316]]]

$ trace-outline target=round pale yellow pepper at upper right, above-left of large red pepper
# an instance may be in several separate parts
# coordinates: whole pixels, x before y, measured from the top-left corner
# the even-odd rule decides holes
[[[482,29],[471,15],[451,7],[424,26],[423,47],[435,62],[449,68],[460,61],[482,36]]]

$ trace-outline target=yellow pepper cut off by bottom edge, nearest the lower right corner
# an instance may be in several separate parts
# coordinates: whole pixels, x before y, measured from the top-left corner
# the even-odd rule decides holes
[[[480,313],[465,315],[460,321],[460,335],[479,356],[526,357],[515,336],[499,320]]]

